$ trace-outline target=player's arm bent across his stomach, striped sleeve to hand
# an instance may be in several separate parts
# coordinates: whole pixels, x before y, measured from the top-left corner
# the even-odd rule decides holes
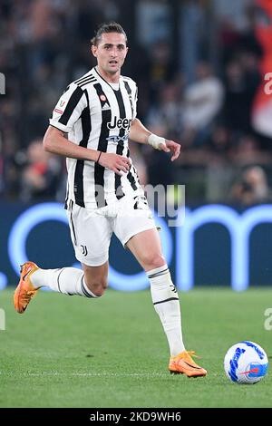
[[[86,108],[86,94],[72,83],[53,110],[50,126],[44,135],[44,150],[76,160],[98,161],[102,167],[119,175],[130,169],[130,160],[118,154],[84,148],[64,137]]]

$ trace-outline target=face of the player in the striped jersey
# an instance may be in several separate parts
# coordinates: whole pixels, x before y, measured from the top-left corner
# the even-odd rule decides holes
[[[99,70],[107,75],[120,74],[127,52],[125,36],[119,33],[103,33],[100,43],[92,46]]]

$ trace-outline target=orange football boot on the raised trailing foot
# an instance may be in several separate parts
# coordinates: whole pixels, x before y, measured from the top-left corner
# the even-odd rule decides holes
[[[19,314],[24,314],[27,305],[37,293],[38,288],[34,288],[30,281],[30,276],[39,269],[34,262],[25,262],[21,266],[21,276],[18,286],[15,289],[14,303]]]

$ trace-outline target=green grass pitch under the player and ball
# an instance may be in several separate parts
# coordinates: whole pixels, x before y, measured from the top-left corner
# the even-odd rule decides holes
[[[252,340],[272,354],[264,315],[271,290],[180,293],[184,341],[209,375],[171,375],[149,291],[108,290],[99,300],[40,291],[24,315],[0,292],[1,407],[271,407],[272,374],[256,385],[228,381],[224,355]],[[197,360],[198,361],[198,360]]]

